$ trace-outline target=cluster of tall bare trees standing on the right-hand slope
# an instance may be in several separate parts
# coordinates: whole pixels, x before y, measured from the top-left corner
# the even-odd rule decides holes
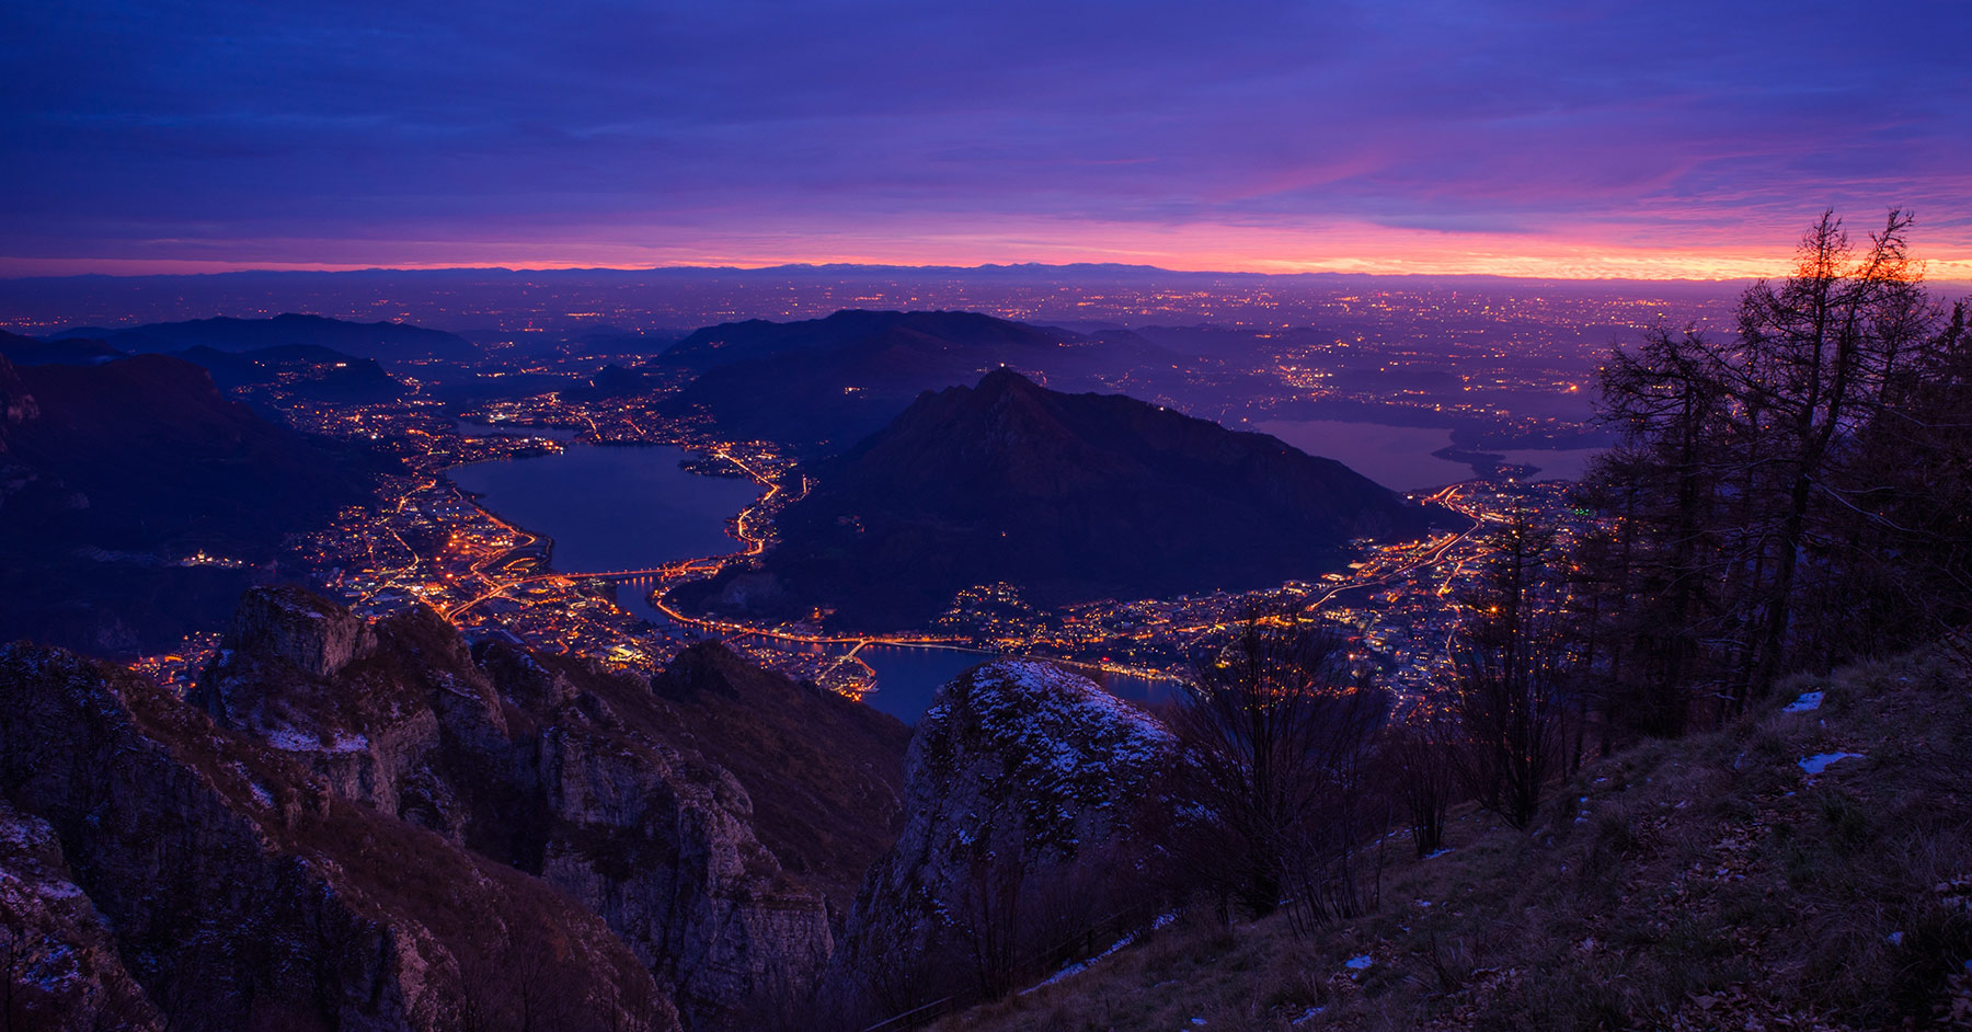
[[[1676,734],[1700,706],[1729,718],[1785,673],[1972,612],[1966,333],[1925,292],[1909,229],[1889,211],[1854,243],[1822,213],[1793,274],[1741,296],[1733,339],[1655,332],[1603,365],[1621,444],[1584,497],[1611,525],[1576,562],[1605,718]]]

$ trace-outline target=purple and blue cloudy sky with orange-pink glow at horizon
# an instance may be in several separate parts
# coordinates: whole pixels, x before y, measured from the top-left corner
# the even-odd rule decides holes
[[[1114,260],[1972,278],[1972,4],[0,6],[0,274]]]

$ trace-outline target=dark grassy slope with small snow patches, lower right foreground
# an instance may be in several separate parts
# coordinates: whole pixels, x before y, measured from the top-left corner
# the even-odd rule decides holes
[[[1189,918],[941,1028],[1972,1028],[1972,671],[1787,700],[1822,687],[1591,764],[1532,833],[1461,813],[1444,856],[1392,843],[1380,910],[1309,941]],[[1808,777],[1824,752],[1866,756]]]

